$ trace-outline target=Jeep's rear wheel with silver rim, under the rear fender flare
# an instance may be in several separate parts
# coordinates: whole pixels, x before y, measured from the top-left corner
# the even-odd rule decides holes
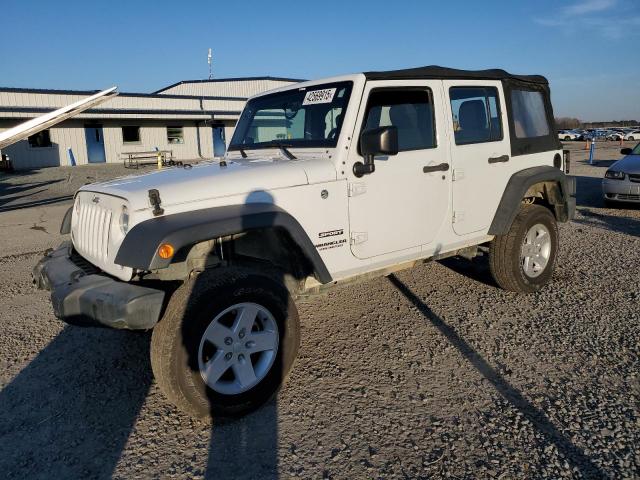
[[[557,252],[553,214],[541,205],[523,205],[509,231],[491,242],[491,274],[505,290],[536,292],[551,280]]]

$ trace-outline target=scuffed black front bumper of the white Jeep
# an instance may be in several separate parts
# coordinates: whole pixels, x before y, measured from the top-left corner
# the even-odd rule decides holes
[[[71,325],[147,330],[160,319],[165,292],[87,271],[65,242],[33,269],[38,288],[51,291],[53,310]]]

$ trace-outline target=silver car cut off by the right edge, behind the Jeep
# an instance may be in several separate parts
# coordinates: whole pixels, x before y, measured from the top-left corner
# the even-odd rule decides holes
[[[640,143],[620,153],[625,156],[611,165],[602,179],[604,201],[640,202]]]

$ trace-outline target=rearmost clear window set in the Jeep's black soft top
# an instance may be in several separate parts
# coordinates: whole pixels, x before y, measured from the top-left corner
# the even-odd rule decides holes
[[[549,135],[549,122],[541,92],[512,90],[511,109],[517,138],[544,137]]]

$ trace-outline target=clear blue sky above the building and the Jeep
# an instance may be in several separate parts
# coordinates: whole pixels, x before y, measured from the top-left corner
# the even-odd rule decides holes
[[[640,120],[640,1],[2,0],[0,85],[151,92],[214,75],[419,65],[551,82],[556,116]]]

